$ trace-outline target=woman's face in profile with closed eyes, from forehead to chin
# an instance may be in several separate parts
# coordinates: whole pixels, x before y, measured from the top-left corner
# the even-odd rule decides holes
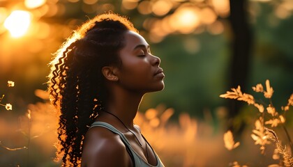
[[[149,44],[133,31],[124,35],[125,47],[119,51],[119,84],[137,93],[148,93],[164,88],[164,73],[159,67],[160,58],[153,56]]]

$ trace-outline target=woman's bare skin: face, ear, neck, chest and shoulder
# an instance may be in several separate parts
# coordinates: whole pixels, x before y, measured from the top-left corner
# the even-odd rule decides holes
[[[163,90],[163,70],[160,58],[153,56],[149,45],[141,35],[133,31],[124,34],[126,46],[119,51],[122,65],[103,67],[106,85],[110,90],[107,112],[117,116],[135,136],[114,116],[101,112],[96,121],[107,122],[122,132],[131,147],[149,164],[158,163],[150,145],[144,141],[133,119],[145,93]],[[133,166],[130,155],[121,138],[103,127],[89,129],[84,140],[82,166],[117,167]]]

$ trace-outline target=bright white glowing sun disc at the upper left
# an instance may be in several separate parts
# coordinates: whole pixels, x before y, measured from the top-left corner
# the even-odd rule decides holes
[[[14,38],[20,38],[29,29],[31,14],[24,10],[15,10],[5,20],[4,26]]]

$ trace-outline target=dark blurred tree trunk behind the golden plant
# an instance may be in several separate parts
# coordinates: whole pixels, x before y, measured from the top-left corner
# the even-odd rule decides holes
[[[250,69],[251,48],[253,46],[253,36],[248,25],[248,1],[230,0],[230,24],[232,28],[231,40],[231,59],[230,59],[230,88],[241,86],[246,90],[248,84],[248,72]],[[234,129],[233,118],[239,113],[242,103],[236,100],[229,100],[229,125],[228,129]],[[234,132],[243,130],[243,122],[240,123],[239,129]]]

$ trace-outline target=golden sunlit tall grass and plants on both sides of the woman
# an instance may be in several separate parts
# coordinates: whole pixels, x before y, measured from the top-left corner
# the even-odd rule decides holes
[[[240,87],[221,95],[248,102],[257,109],[253,125],[248,125],[242,138],[237,138],[240,141],[234,141],[232,132],[223,130],[227,122],[225,107],[203,111],[204,120],[180,113],[178,121],[172,121],[170,118],[178,111],[160,104],[137,112],[135,124],[141,127],[142,134],[167,167],[292,166],[291,139],[287,136],[292,129],[285,125],[293,95],[278,111],[270,100],[273,88],[269,81],[266,81],[266,90],[261,85],[253,89],[266,94],[264,97],[269,103],[242,93]],[[0,109],[0,166],[60,166],[53,161],[57,114],[45,91],[36,90],[35,94],[43,102],[29,104],[23,116],[6,111],[6,104],[3,104],[3,110]],[[211,116],[212,112],[216,113],[215,117]]]

